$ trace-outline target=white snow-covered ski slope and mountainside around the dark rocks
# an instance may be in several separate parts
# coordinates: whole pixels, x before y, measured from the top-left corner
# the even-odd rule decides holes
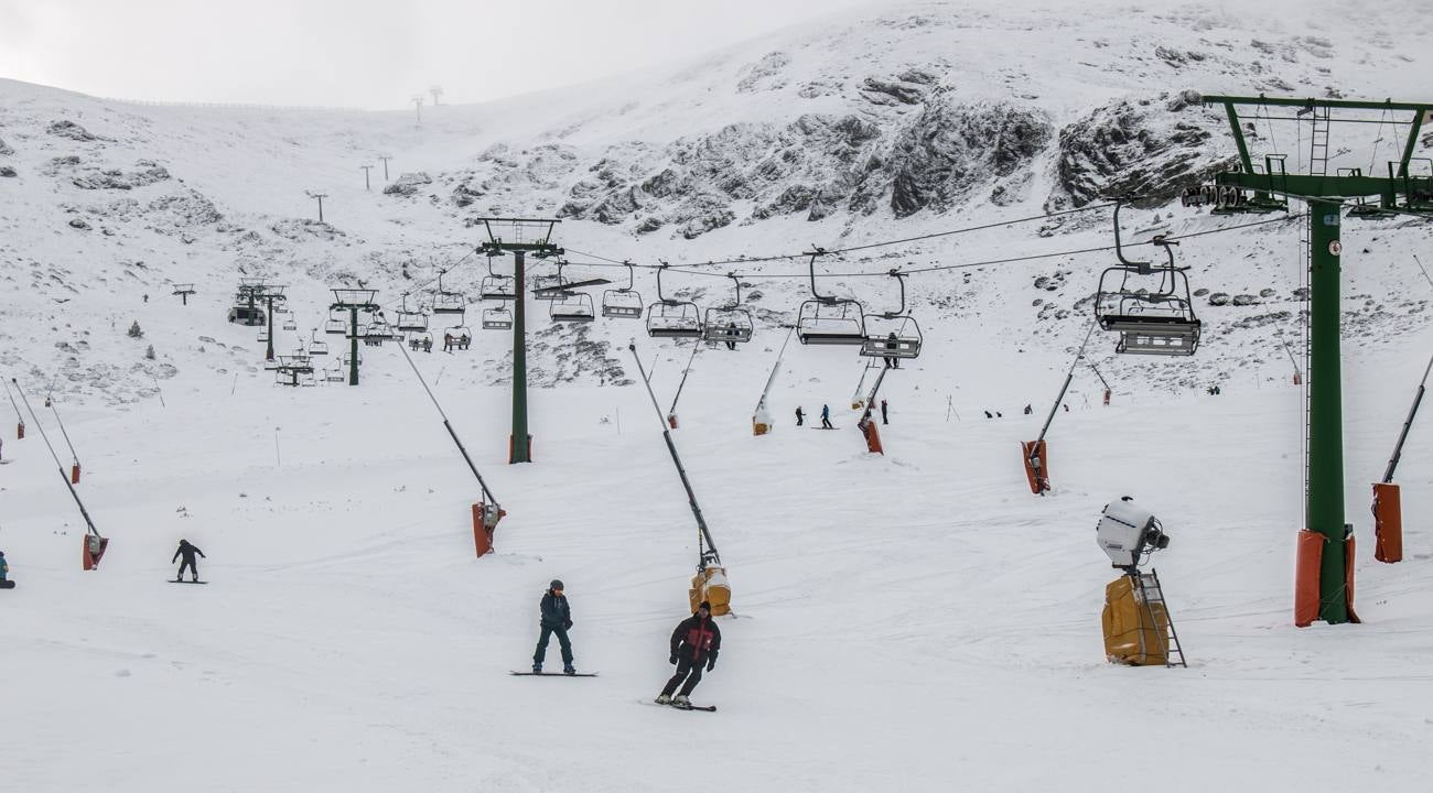
[[[1198,301],[1197,356],[1116,359],[1096,334],[1091,359],[1113,405],[1099,405],[1099,382],[1080,369],[1049,438],[1056,490],[1046,498],[1029,494],[1017,441],[1039,431],[1089,322],[1080,301],[1111,253],[911,278],[927,349],[886,379],[886,457],[866,454],[854,429],[861,362],[848,349],[792,342],[772,392],[778,429],[751,437],[780,322],[805,293],[800,281],[757,276],[804,262],[737,266],[751,276],[758,335],[739,352],[696,356],[675,432],[739,614],[722,623],[721,660],[694,696],[721,711],[699,719],[642,704],[671,673],[666,640],[686,614],[696,530],[626,351],[636,336],[643,364],[655,361],[665,411],[689,346],[652,342],[638,322],[553,329],[546,305],[529,303],[543,388],[532,391],[536,462],[519,467],[503,464],[510,395],[494,385],[507,335],[474,331],[467,355],[417,355],[510,512],[497,553],[474,560],[476,482],[394,346],[361,348],[360,388],[287,389],[262,371],[254,329],[224,322],[241,275],[288,283],[304,335],[324,319],[331,286],[363,278],[396,302],[433,276],[430,258],[460,259],[480,240],[473,216],[552,215],[632,140],[661,149],[801,112],[898,125],[919,107],[853,103],[864,102],[866,76],[911,66],[936,64],[976,100],[1029,93],[1056,123],[1185,87],[1429,99],[1420,4],[1290,9],[1085,17],[1063,6],[973,16],[963,4],[883,6],[675,76],[440,107],[421,127],[406,113],[148,107],[0,83],[0,152],[13,149],[0,166],[17,170],[0,179],[0,371],[36,408],[56,395],[85,465],[77,490],[112,538],[102,568],[82,573],[83,524],[39,428],[30,421],[23,441],[7,429],[0,550],[19,585],[0,593],[0,779],[116,792],[1106,790],[1129,780],[1426,790],[1426,422],[1399,472],[1403,564],[1371,561],[1366,508],[1433,342],[1433,293],[1410,259],[1427,249],[1420,222],[1344,228],[1347,517],[1364,624],[1305,630],[1290,624],[1301,392],[1281,341],[1300,349],[1304,308],[1293,222],[1181,246],[1194,286],[1254,298]],[[1156,47],[1185,54],[1175,66]],[[771,52],[790,63],[764,60]],[[761,90],[738,90],[754,74]],[[818,82],[837,87],[800,94]],[[52,126],[63,120],[102,139]],[[539,152],[550,142],[573,146],[573,159]],[[484,155],[494,145],[509,149]],[[394,177],[426,170],[434,182],[413,196],[365,193],[357,166],[377,153],[394,155]],[[1369,156],[1367,146],[1343,155],[1360,166]],[[884,208],[747,223],[752,203],[735,200],[737,220],[692,240],[675,219],[651,233],[635,220],[567,219],[557,242],[575,262],[580,250],[676,263],[914,236],[1040,213],[1056,160],[1036,153],[1009,205],[982,189],[959,209],[903,219]],[[457,206],[453,190],[479,182],[474,203]],[[328,226],[301,220],[314,209],[305,190],[331,196]],[[1247,220],[1164,206],[1126,222],[1144,240]],[[1048,236],[1036,228],[823,266],[883,272],[1109,242],[1108,213]],[[450,283],[471,291],[480,272],[469,261]],[[169,296],[175,282],[196,283],[188,306]],[[729,288],[672,282],[704,305]],[[639,272],[638,288],[655,298],[651,273]],[[823,288],[871,308],[894,302],[884,281]],[[145,339],[125,336],[132,321]],[[298,335],[281,334],[279,352]],[[155,361],[143,358],[149,344]],[[1204,395],[1211,382],[1221,396]],[[1033,417],[1020,415],[1027,402]],[[821,404],[840,431],[791,427],[797,405],[810,424]],[[1115,571],[1092,530],[1101,507],[1126,494],[1172,535],[1155,564],[1188,670],[1103,663],[1099,608]],[[208,587],[163,583],[179,537],[209,554]],[[509,676],[527,664],[553,577],[572,598],[577,667],[598,678]]]

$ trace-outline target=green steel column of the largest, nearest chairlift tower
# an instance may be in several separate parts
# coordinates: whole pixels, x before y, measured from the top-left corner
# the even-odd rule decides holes
[[[1310,200],[1308,528],[1324,535],[1318,618],[1348,621],[1344,593],[1340,203]]]

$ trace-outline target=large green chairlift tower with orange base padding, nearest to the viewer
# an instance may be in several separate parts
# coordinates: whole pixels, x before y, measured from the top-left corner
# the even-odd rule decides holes
[[[1215,192],[1224,195],[1251,190],[1255,195],[1294,198],[1308,206],[1308,457],[1305,481],[1305,520],[1298,532],[1298,561],[1294,583],[1294,624],[1307,626],[1314,620],[1330,624],[1358,621],[1353,611],[1353,527],[1344,522],[1343,470],[1343,379],[1340,352],[1340,258],[1338,239],[1343,203],[1348,199],[1377,198],[1380,209],[1403,215],[1433,215],[1433,205],[1424,195],[1433,188],[1433,175],[1413,176],[1409,163],[1419,143],[1419,132],[1433,120],[1433,103],[1350,102],[1330,99],[1274,99],[1250,96],[1204,96],[1204,104],[1221,104],[1238,147],[1240,169],[1218,173]],[[1287,109],[1294,115],[1281,120],[1301,120],[1307,116],[1314,126],[1310,150],[1310,173],[1264,173],[1255,170],[1238,107],[1255,107],[1261,113]],[[1347,172],[1327,175],[1328,127],[1336,120],[1331,113],[1381,112],[1409,113],[1407,122],[1393,122],[1409,127],[1401,156],[1389,163],[1389,176],[1363,176]],[[1353,120],[1353,119],[1350,119]]]

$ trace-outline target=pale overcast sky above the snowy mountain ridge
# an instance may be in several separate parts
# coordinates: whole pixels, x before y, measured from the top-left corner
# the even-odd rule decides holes
[[[97,96],[403,107],[527,93],[888,0],[0,0],[0,77]]]

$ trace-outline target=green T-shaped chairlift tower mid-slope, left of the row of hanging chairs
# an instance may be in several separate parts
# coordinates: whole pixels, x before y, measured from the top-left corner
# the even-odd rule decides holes
[[[507,439],[507,462],[532,462],[533,438],[527,432],[527,253],[537,258],[560,256],[562,248],[552,243],[552,230],[559,220],[532,218],[479,218],[487,230],[487,242],[479,246],[484,255],[513,255],[513,429]],[[513,233],[503,239],[493,226]]]

